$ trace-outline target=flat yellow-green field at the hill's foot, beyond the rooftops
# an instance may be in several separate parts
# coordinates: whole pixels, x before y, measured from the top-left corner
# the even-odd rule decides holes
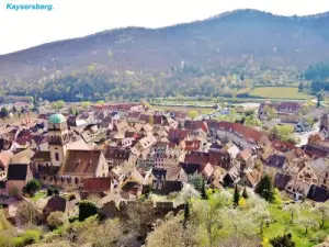
[[[291,87],[260,87],[251,91],[250,96],[266,99],[309,99],[310,96],[298,92],[298,88]]]

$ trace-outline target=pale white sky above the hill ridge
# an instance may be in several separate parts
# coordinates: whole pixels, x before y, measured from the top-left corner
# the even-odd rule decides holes
[[[12,10],[8,4],[52,4]],[[225,11],[257,9],[282,15],[329,11],[328,0],[0,0],[0,54],[124,26],[160,27]]]

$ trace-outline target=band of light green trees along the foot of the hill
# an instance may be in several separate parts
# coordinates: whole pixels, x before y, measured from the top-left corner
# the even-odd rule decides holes
[[[224,69],[181,66],[164,71],[104,71],[97,64],[79,72],[65,75],[57,71],[38,81],[20,78],[0,83],[0,96],[37,97],[44,100],[69,102],[162,97],[246,98],[254,87],[281,86],[296,81],[294,68],[264,69],[261,66],[238,64]]]

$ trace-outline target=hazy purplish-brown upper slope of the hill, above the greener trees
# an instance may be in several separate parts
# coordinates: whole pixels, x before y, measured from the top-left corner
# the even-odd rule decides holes
[[[112,30],[2,55],[0,79],[39,79],[92,64],[104,72],[160,71],[182,61],[205,69],[253,61],[304,68],[329,59],[328,50],[329,12],[277,16],[239,10],[194,23]]]

